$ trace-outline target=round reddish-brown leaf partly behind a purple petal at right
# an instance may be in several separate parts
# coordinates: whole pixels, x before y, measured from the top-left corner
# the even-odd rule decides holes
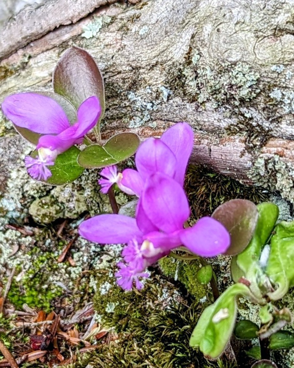
[[[225,254],[234,255],[243,251],[254,233],[258,212],[254,203],[247,199],[232,199],[215,209],[212,217],[229,231],[231,244]]]

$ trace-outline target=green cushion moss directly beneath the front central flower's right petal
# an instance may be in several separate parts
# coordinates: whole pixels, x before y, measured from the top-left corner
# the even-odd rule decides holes
[[[198,261],[176,261],[174,258],[165,257],[158,263],[164,275],[179,280],[196,301],[206,296],[207,286],[201,285],[196,279],[196,273],[201,267]]]

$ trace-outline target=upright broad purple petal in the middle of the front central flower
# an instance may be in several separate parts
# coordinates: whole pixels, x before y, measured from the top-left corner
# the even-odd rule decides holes
[[[143,211],[160,230],[173,233],[183,229],[190,209],[186,194],[177,181],[161,173],[153,174],[147,180],[141,198]]]

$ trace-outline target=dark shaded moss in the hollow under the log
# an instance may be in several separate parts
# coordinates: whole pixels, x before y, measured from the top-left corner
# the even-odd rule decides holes
[[[217,206],[230,199],[244,198],[255,204],[268,200],[262,188],[241,184],[203,166],[188,167],[185,188],[194,219],[211,215]]]

